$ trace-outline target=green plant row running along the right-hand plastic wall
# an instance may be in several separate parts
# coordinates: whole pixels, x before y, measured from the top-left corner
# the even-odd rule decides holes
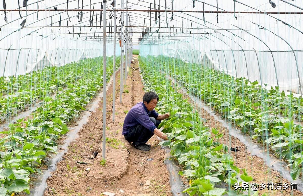
[[[292,93],[285,96],[278,87],[266,90],[257,81],[235,78],[197,64],[158,58],[165,58],[160,69],[168,70],[188,93],[204,100],[245,134],[261,142],[265,149],[286,160],[294,180],[302,174],[302,127],[292,119],[293,113],[300,111],[297,108],[303,101],[301,98],[293,97]],[[282,117],[279,117],[280,113]]]

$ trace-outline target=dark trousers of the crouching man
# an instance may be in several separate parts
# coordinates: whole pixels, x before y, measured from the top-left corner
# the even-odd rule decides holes
[[[150,119],[156,127],[158,127],[158,125],[161,123],[160,120],[156,120],[153,117],[150,117]],[[125,134],[124,137],[128,142],[133,142],[133,145],[138,146],[145,144],[151,138],[152,135],[154,135],[154,133],[139,124],[132,128],[130,132]]]

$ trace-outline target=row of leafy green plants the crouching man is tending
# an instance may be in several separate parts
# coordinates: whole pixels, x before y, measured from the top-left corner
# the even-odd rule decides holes
[[[245,169],[235,166],[231,155],[226,153],[227,146],[217,142],[223,134],[203,125],[204,119],[178,93],[165,74],[159,73],[158,65],[154,65],[151,59],[140,57],[139,60],[145,91],[158,94],[159,113],[170,113],[169,119],[163,120],[158,126],[168,135],[168,140],[159,145],[169,146],[171,155],[184,166],[184,170],[179,172],[189,178],[189,186],[184,192],[189,195],[245,195],[241,192],[243,190],[234,190],[232,186],[236,182],[241,184],[236,178],[240,171],[243,181],[252,181],[252,177],[247,175]],[[215,188],[217,183],[222,182],[228,185],[228,190]],[[249,190],[248,195],[250,193]]]

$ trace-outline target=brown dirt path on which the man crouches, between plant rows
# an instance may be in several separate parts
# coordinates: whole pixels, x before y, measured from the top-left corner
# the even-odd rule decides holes
[[[116,111],[112,123],[112,86],[107,91],[106,161],[102,159],[102,103],[89,118],[88,124],[69,145],[69,150],[48,179],[45,195],[171,195],[168,172],[156,136],[150,139],[151,151],[131,146],[122,135],[128,110],[142,100],[144,90],[138,70],[129,70],[122,103],[120,103],[120,72],[116,73]],[[94,152],[98,155],[94,157]],[[96,153],[95,153],[96,154]],[[147,158],[153,158],[147,161]],[[87,164],[77,163],[84,162]],[[150,181],[150,185],[145,185]]]

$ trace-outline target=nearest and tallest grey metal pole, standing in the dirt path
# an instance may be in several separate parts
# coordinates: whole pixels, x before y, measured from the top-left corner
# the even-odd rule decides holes
[[[106,9],[106,0],[103,0]],[[105,160],[105,124],[106,124],[106,11],[103,11],[103,129],[102,129],[102,158]]]

